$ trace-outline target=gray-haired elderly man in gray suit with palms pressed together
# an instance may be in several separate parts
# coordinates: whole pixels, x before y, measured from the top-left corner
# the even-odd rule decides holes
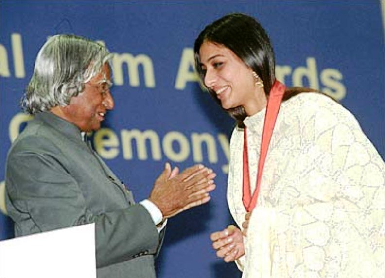
[[[16,236],[95,223],[99,278],[155,277],[166,220],[210,200],[215,174],[167,163],[147,200],[131,191],[84,138],[114,101],[110,53],[96,42],[55,35],[39,51],[23,105],[35,115],[12,145],[6,205]]]

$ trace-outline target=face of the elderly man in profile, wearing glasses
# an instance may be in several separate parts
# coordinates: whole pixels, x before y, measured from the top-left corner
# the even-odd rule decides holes
[[[114,108],[114,100],[109,90],[110,78],[110,70],[105,63],[101,72],[85,84],[83,92],[72,97],[69,105],[61,107],[62,118],[75,124],[81,131],[100,129],[107,110]]]

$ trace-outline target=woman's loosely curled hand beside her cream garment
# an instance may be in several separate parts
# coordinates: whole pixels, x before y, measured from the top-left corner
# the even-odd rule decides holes
[[[225,262],[235,261],[245,254],[242,232],[234,225],[212,233],[210,238],[216,255]]]

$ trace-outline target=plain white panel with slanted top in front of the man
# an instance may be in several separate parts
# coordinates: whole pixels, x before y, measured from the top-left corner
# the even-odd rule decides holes
[[[95,225],[0,241],[0,278],[96,278]]]

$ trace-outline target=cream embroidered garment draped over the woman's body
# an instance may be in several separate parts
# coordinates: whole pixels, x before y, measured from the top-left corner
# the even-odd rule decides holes
[[[256,184],[265,110],[247,117]],[[243,130],[230,142],[227,201],[241,226]],[[352,114],[302,93],[280,107],[249,221],[244,278],[384,278],[385,165]]]

